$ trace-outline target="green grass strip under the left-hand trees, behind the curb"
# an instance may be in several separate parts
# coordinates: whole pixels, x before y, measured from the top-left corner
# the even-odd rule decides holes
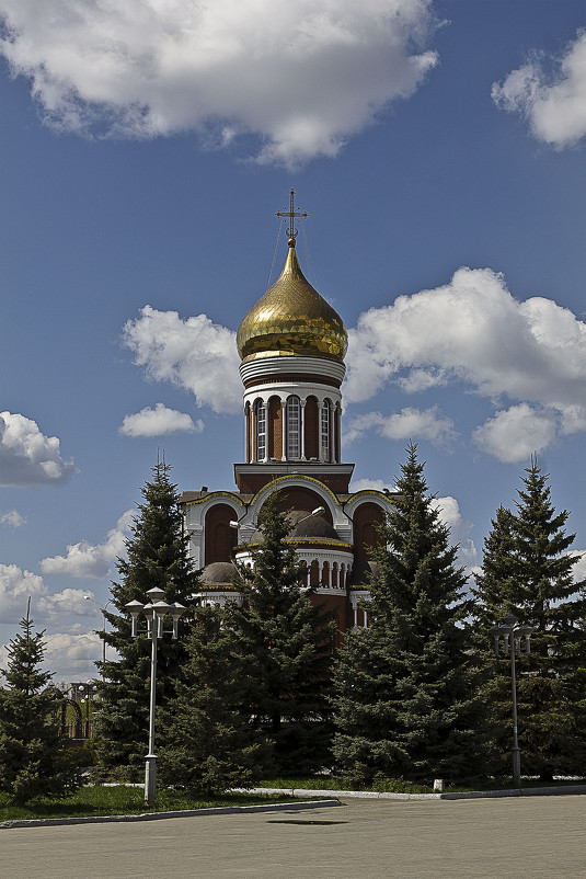
[[[171,812],[217,806],[256,806],[287,799],[290,797],[285,794],[223,794],[206,799],[183,791],[161,790],[154,802],[147,804],[142,788],[96,785],[80,788],[65,799],[38,798],[27,806],[11,806],[8,795],[0,794],[0,821]]]

